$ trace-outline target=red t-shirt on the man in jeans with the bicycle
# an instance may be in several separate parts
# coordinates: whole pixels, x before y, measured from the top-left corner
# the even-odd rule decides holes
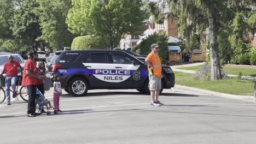
[[[16,76],[18,75],[18,68],[21,68],[18,61],[13,60],[12,63],[5,62],[3,71],[6,71],[6,76]]]

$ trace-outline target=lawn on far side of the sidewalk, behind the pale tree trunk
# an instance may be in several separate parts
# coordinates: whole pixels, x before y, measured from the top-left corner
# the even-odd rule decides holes
[[[201,65],[197,65],[194,67],[184,67],[184,68],[178,68],[178,69],[185,69],[185,70],[199,70],[201,69]],[[244,76],[256,76],[256,69],[250,69],[250,68],[228,68],[223,67],[223,70],[229,74],[229,75],[238,75],[240,72]]]

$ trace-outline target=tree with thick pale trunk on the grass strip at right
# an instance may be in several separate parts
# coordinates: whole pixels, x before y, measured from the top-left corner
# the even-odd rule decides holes
[[[223,26],[230,25],[234,11],[242,11],[252,0],[166,0],[170,16],[176,17],[179,32],[187,39],[193,33],[208,29],[211,50],[211,80],[222,79],[217,35]]]

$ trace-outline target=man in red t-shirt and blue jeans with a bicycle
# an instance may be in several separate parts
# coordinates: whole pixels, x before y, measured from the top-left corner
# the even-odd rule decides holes
[[[5,95],[7,98],[7,105],[10,105],[10,86],[13,87],[13,98],[16,97],[16,81],[18,75],[18,68],[21,69],[21,65],[18,61],[13,60],[13,56],[8,56],[9,61],[4,63],[4,68],[2,75],[6,72],[5,75]]]

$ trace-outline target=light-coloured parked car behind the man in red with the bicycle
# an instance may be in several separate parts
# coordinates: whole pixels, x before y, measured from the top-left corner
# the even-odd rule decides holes
[[[3,65],[5,62],[8,61],[8,56],[11,55],[13,56],[15,61],[18,61],[22,67],[22,69],[25,66],[25,61],[24,59],[18,54],[18,53],[9,53],[9,52],[5,52],[5,53],[0,53],[0,71],[3,71]],[[5,74],[3,74],[5,76]],[[18,68],[18,75],[21,75],[21,69]]]

